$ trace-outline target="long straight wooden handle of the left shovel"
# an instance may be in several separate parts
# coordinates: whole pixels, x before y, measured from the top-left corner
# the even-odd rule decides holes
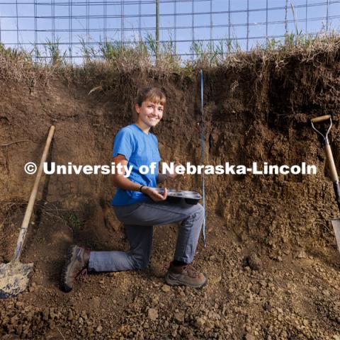
[[[48,150],[50,149],[50,144],[51,144],[54,133],[55,133],[55,126],[52,125],[50,127],[50,132],[48,132],[45,149],[44,149],[44,152],[42,152],[42,157],[41,157],[39,168],[37,171],[37,176],[35,177],[35,182],[33,185],[33,189],[30,193],[30,199],[28,200],[28,205],[26,208],[25,216],[23,217],[23,223],[21,224],[20,234],[18,237],[18,241],[16,242],[16,250],[14,251],[13,261],[17,261],[21,254],[21,249],[23,247],[23,241],[25,240],[28,223],[30,222],[30,216],[32,215],[32,211],[33,211],[35,198],[37,197],[38,186],[39,186],[40,178],[42,175],[42,170],[43,170],[46,158],[47,158]]]

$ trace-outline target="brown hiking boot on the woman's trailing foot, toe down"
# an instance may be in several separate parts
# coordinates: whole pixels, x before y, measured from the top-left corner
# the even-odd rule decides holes
[[[69,246],[60,282],[60,288],[63,292],[69,293],[73,288],[74,280],[87,273],[90,252],[89,249],[81,248],[81,246]]]

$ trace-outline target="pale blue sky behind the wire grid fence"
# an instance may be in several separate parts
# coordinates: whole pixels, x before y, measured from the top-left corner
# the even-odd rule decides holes
[[[58,41],[69,53],[72,42],[76,58],[80,40],[139,40],[155,35],[155,21],[155,0],[0,0],[4,45],[32,50],[35,42]],[[192,40],[232,39],[250,50],[266,37],[282,39],[286,30],[339,31],[340,0],[159,0],[159,28],[160,40],[176,40],[176,52],[183,55],[191,53]]]

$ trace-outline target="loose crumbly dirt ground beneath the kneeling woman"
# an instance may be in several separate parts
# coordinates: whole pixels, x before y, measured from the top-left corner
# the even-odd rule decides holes
[[[22,217],[22,208],[9,211]],[[35,263],[30,288],[0,301],[1,333],[18,334],[4,339],[339,339],[335,249],[328,256],[263,249],[215,218],[195,261],[208,285],[171,288],[163,277],[176,226],[157,227],[147,270],[92,274],[65,294],[58,282],[74,230],[55,207],[41,211],[23,254]],[[111,234],[98,249],[128,249],[123,232]]]

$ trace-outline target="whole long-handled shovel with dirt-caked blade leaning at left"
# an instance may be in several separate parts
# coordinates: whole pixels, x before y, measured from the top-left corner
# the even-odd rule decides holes
[[[30,199],[26,208],[25,216],[23,217],[23,223],[21,225],[18,241],[16,242],[16,250],[14,251],[13,260],[8,263],[0,263],[0,298],[6,299],[7,297],[14,297],[19,293],[26,290],[28,281],[30,280],[30,274],[33,270],[33,263],[21,263],[19,261],[21,249],[23,248],[23,242],[26,237],[28,224],[30,222],[30,216],[32,215],[33,205],[35,197],[37,196],[38,186],[42,175],[43,164],[46,161],[48,149],[52,141],[55,127],[52,125],[50,132],[48,133],[44,152],[42,153],[40,165],[37,172],[37,177],[33,185],[32,192],[30,193]]]

